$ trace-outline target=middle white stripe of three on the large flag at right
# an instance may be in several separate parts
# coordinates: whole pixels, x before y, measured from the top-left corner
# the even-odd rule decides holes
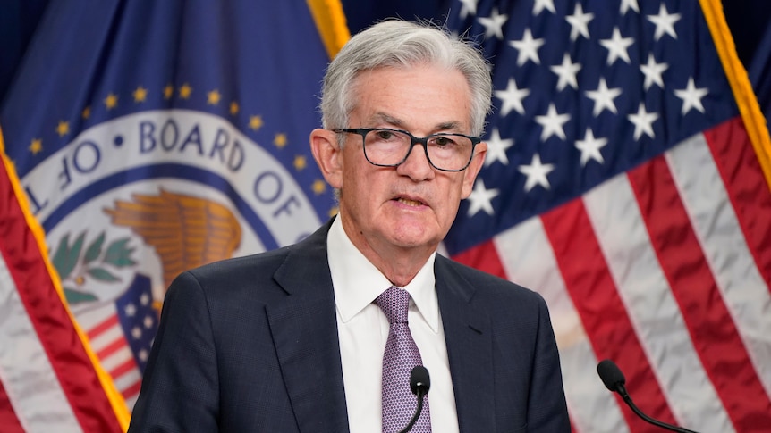
[[[675,418],[697,429],[733,432],[650,245],[629,179],[616,176],[589,191],[583,201],[608,271]]]

